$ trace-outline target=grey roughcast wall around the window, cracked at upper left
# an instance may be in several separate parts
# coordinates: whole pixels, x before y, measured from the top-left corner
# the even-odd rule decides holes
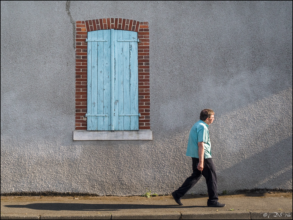
[[[68,5],[68,4],[67,4]],[[1,1],[1,194],[169,194],[204,108],[218,192],[292,190],[292,1]],[[69,13],[70,12],[70,13]],[[151,141],[73,141],[72,21],[150,30]],[[205,180],[189,193],[206,193]]]

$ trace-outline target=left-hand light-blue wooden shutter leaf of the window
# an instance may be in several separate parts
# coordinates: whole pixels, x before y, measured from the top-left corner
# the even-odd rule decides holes
[[[110,130],[110,30],[88,32],[87,130]]]

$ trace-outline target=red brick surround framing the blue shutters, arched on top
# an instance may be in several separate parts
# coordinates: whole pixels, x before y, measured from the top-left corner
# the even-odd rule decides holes
[[[75,129],[86,130],[87,112],[87,32],[94,30],[130,30],[137,32],[139,129],[151,129],[149,93],[149,23],[122,18],[76,21],[75,52]]]

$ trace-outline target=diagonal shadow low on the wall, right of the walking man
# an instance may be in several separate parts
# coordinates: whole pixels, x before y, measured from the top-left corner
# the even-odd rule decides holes
[[[224,168],[218,180],[221,188],[230,182],[237,183],[235,189],[286,189],[290,182],[292,186],[292,136]]]

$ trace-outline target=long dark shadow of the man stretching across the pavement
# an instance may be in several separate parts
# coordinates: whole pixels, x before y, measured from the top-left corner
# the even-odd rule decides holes
[[[118,211],[120,209],[170,209],[204,208],[207,206],[144,205],[144,204],[84,204],[84,203],[31,203],[27,205],[5,205],[8,208],[28,208],[52,211]]]

